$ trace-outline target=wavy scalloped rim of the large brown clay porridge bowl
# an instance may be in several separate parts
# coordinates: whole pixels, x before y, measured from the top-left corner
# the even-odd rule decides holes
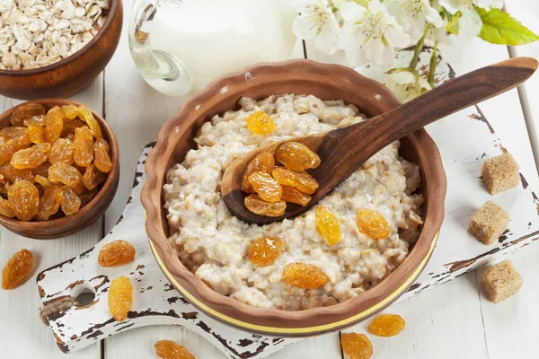
[[[261,63],[261,64],[256,64],[253,66],[248,66],[233,74],[225,74],[224,76],[221,76],[217,78],[216,80],[214,80],[212,83],[209,83],[208,87],[206,87],[205,90],[191,97],[190,100],[185,101],[181,105],[181,108],[178,109],[178,111],[172,116],[172,118],[169,118],[167,122],[163,125],[162,129],[159,132],[159,136],[157,137],[155,148],[153,149],[153,151],[150,153],[150,155],[148,156],[146,160],[146,176],[147,177],[146,177],[146,183],[141,193],[141,202],[146,211],[146,232],[148,234],[151,247],[153,248],[153,251],[155,253],[155,258],[157,259],[159,266],[162,268],[163,273],[165,273],[165,276],[167,276],[167,274],[168,276],[170,276],[168,278],[169,280],[171,278],[174,279],[172,281],[172,285],[180,293],[182,293],[181,285],[180,286],[177,285],[178,281],[176,281],[175,279],[180,278],[186,283],[189,283],[193,288],[192,292],[196,293],[196,296],[203,300],[202,304],[204,305],[204,307],[202,305],[197,305],[197,303],[199,302],[198,300],[195,300],[195,301],[192,300],[194,295],[190,291],[184,290],[183,292],[185,293],[182,293],[182,294],[184,294],[187,297],[187,299],[190,300],[191,303],[199,307],[201,311],[206,312],[208,315],[212,317],[216,317],[217,320],[221,320],[225,322],[226,324],[232,325],[234,327],[239,327],[239,328],[243,328],[243,329],[247,329],[247,330],[255,331],[255,332],[262,332],[265,334],[278,333],[279,335],[286,335],[286,336],[305,336],[309,334],[319,333],[321,331],[325,332],[331,329],[341,328],[342,326],[348,326],[350,324],[353,324],[354,322],[357,322],[358,320],[361,320],[361,318],[359,319],[354,318],[353,320],[350,320],[348,324],[343,324],[343,323],[340,323],[339,321],[336,321],[336,322],[333,321],[331,325],[323,326],[324,328],[322,329],[314,329],[312,332],[309,332],[308,334],[306,334],[306,332],[308,331],[308,328],[297,328],[297,327],[264,328],[263,326],[254,325],[252,323],[245,323],[242,320],[237,320],[234,318],[230,320],[230,317],[223,315],[223,313],[216,311],[215,309],[213,310],[213,312],[210,312],[206,308],[208,308],[208,306],[211,306],[213,308],[226,307],[226,308],[232,309],[235,313],[240,314],[243,318],[249,318],[249,319],[253,318],[253,320],[255,321],[256,320],[262,321],[262,320],[271,318],[275,320],[286,319],[287,321],[305,322],[306,320],[309,320],[318,316],[327,316],[330,318],[335,318],[335,317],[338,317],[339,315],[346,315],[347,312],[349,312],[350,310],[354,308],[355,303],[358,303],[358,301],[364,301],[366,298],[367,298],[366,302],[371,301],[371,300],[375,302],[380,302],[380,297],[385,298],[391,293],[396,293],[394,295],[393,300],[398,298],[398,296],[402,294],[404,290],[406,289],[404,287],[405,285],[402,285],[402,282],[406,282],[406,280],[413,281],[413,279],[415,279],[415,276],[413,275],[406,276],[402,278],[402,280],[395,287],[393,282],[395,282],[396,279],[394,278],[397,278],[397,276],[405,275],[405,271],[407,270],[405,269],[404,264],[408,263],[407,266],[413,268],[413,271],[414,272],[417,271],[419,275],[420,271],[424,267],[424,264],[426,264],[427,261],[429,260],[430,253],[434,249],[436,238],[437,238],[437,232],[439,231],[439,228],[441,227],[441,223],[444,217],[444,198],[446,196],[446,174],[443,169],[441,157],[437,149],[437,146],[432,140],[432,138],[430,138],[430,136],[427,134],[427,132],[424,129],[420,129],[419,131],[416,131],[415,133],[409,135],[411,139],[421,141],[423,153],[429,153],[429,166],[427,167],[428,167],[428,170],[430,171],[429,173],[431,174],[431,177],[433,177],[432,180],[437,181],[437,186],[433,185],[431,188],[429,188],[429,193],[431,193],[431,196],[436,197],[439,203],[436,203],[433,200],[434,199],[433,198],[432,199],[433,203],[435,203],[437,206],[430,208],[428,212],[428,216],[425,217],[425,224],[423,225],[421,229],[420,237],[418,239],[418,242],[422,240],[422,243],[424,243],[423,248],[417,249],[417,250],[411,250],[411,252],[407,256],[407,258],[404,260],[404,262],[395,270],[393,270],[393,273],[390,276],[387,276],[380,284],[376,285],[374,288],[371,288],[365,293],[362,293],[353,298],[350,298],[347,301],[340,302],[338,304],[328,306],[328,307],[316,307],[316,308],[307,309],[303,311],[285,311],[285,310],[278,310],[274,308],[264,309],[264,308],[253,307],[244,302],[240,302],[238,300],[230,298],[229,296],[216,293],[207,285],[203,284],[203,282],[197,276],[194,276],[194,274],[192,274],[186,267],[183,267],[180,259],[176,256],[174,250],[172,249],[172,246],[167,241],[166,234],[163,231],[163,226],[161,225],[162,221],[161,221],[161,215],[160,215],[162,212],[162,204],[163,204],[163,198],[162,198],[163,177],[158,178],[157,173],[156,173],[157,171],[152,171],[154,170],[153,166],[155,165],[155,162],[157,161],[158,158],[162,157],[163,154],[170,153],[172,151],[172,148],[175,146],[175,143],[172,143],[172,140],[170,138],[172,136],[170,136],[170,134],[173,134],[175,130],[178,129],[178,126],[181,126],[181,120],[185,117],[184,112],[189,112],[191,109],[195,108],[195,106],[199,103],[208,102],[208,100],[211,99],[212,96],[218,95],[220,90],[225,88],[227,84],[234,83],[234,80],[240,81],[240,79],[243,79],[245,74],[247,73],[256,72],[257,74],[261,74],[261,73],[266,74],[268,70],[276,70],[276,69],[280,70],[281,72],[283,70],[290,71],[289,67],[294,67],[294,66],[304,66],[304,67],[307,66],[310,68],[310,71],[323,73],[323,74],[347,74],[349,77],[353,78],[354,80],[357,80],[358,82],[369,83],[370,85],[372,85],[374,89],[373,91],[377,92],[377,94],[381,94],[382,96],[386,97],[392,103],[394,107],[400,105],[400,102],[396,99],[396,97],[394,97],[393,93],[390,92],[390,90],[387,89],[383,84],[377,83],[374,80],[368,79],[367,77],[362,76],[361,74],[358,74],[356,71],[354,71],[353,69],[350,69],[349,67],[339,66],[339,65],[321,64],[321,63],[318,63],[312,60],[307,60],[307,59],[292,59],[292,60],[287,60],[287,61],[278,62],[278,63]],[[423,163],[423,167],[425,166],[425,164],[426,163]],[[423,167],[421,168],[421,170],[426,171]],[[163,174],[163,176],[164,175],[165,174]],[[156,191],[155,188],[158,188],[158,193],[159,193],[158,203],[155,203],[154,201],[154,199],[156,199],[156,195],[154,195],[154,192]],[[431,233],[430,236],[428,236],[429,232]],[[429,245],[427,245],[426,243],[428,243]],[[421,265],[423,261],[424,261],[424,264]],[[178,263],[180,263],[179,266],[177,265]],[[393,278],[391,280],[391,283],[392,283],[391,285],[387,285],[387,283],[390,282],[388,278]],[[385,285],[382,285],[384,283]],[[411,283],[409,285],[411,285]],[[392,288],[392,291],[381,292],[385,289],[385,287]],[[189,294],[189,295],[186,295],[186,294]],[[380,309],[381,308],[379,308],[378,310]]]

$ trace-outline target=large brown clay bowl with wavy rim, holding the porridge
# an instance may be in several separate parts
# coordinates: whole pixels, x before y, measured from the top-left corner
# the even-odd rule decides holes
[[[169,229],[162,199],[165,173],[195,146],[193,136],[212,116],[237,108],[236,101],[241,96],[262,99],[282,92],[309,93],[324,100],[342,99],[358,106],[368,117],[399,106],[399,101],[383,85],[343,66],[290,60],[255,65],[225,75],[185,102],[164,124],[146,162],[147,180],[141,199],[155,258],[172,285],[190,302],[217,320],[239,328],[270,335],[306,336],[354,324],[406,291],[434,249],[444,217],[446,176],[437,146],[425,130],[402,139],[402,156],[420,165],[423,179],[420,190],[426,197],[425,224],[408,258],[367,293],[331,307],[281,311],[254,308],[212,291],[181,264],[166,239]]]

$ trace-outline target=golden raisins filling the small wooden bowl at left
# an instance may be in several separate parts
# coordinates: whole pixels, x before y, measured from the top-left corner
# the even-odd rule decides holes
[[[112,169],[92,111],[28,102],[10,122],[0,130],[0,215],[47,221],[78,213]]]

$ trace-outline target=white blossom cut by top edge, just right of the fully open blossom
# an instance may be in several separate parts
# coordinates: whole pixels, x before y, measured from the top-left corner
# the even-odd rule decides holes
[[[411,39],[420,39],[426,22],[432,23],[435,28],[444,26],[442,17],[430,6],[429,0],[385,0],[384,4]]]

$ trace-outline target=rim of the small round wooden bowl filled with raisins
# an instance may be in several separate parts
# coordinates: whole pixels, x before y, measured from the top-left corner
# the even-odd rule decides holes
[[[13,106],[12,108],[5,110],[3,113],[0,114],[0,118],[4,118],[4,116],[9,116],[11,113],[13,113],[13,111],[15,109],[18,109],[22,105],[24,105],[26,103],[29,103],[29,102],[40,103],[41,105],[43,105],[45,107],[47,107],[47,106],[51,107],[50,106],[51,104],[55,104],[53,106],[57,106],[57,104],[60,104],[60,105],[73,104],[73,105],[76,105],[76,106],[84,106],[84,107],[90,109],[90,107],[88,107],[88,106],[86,106],[83,103],[78,102],[78,101],[73,101],[73,100],[69,100],[69,99],[62,99],[62,98],[48,98],[48,99],[24,101],[24,102],[22,102],[21,104],[19,104],[17,106]],[[90,110],[92,111],[93,117],[99,122],[99,125],[102,127],[102,131],[104,133],[106,133],[106,135],[109,137],[108,142],[110,144],[110,161],[112,162],[112,169],[110,170],[109,173],[107,173],[107,180],[105,180],[105,182],[102,184],[102,188],[99,189],[99,191],[97,192],[95,197],[93,197],[90,200],[90,202],[88,202],[85,206],[83,206],[80,209],[80,211],[77,212],[75,215],[64,215],[64,216],[62,216],[60,218],[53,219],[53,220],[50,220],[50,221],[44,221],[44,222],[36,222],[36,221],[23,222],[23,221],[20,221],[20,220],[18,220],[16,218],[8,218],[8,217],[5,217],[4,215],[0,215],[0,224],[2,224],[4,227],[6,227],[8,229],[9,229],[9,227],[14,227],[14,228],[20,229],[22,231],[24,231],[24,230],[27,230],[27,231],[34,230],[35,231],[35,230],[39,230],[39,229],[48,229],[48,228],[55,227],[55,226],[58,226],[58,227],[64,226],[64,225],[66,225],[66,223],[72,222],[75,218],[84,217],[84,216],[89,215],[90,211],[93,209],[93,206],[95,206],[96,204],[98,204],[98,203],[100,203],[102,201],[107,200],[106,195],[109,192],[108,191],[109,188],[114,189],[114,188],[118,187],[118,183],[115,184],[115,182],[118,182],[118,178],[119,178],[119,146],[118,146],[118,140],[116,138],[116,135],[114,135],[114,132],[112,131],[112,128],[110,127],[108,122],[104,118],[102,118],[99,114],[95,113],[95,111],[93,111],[93,109],[90,109]],[[4,127],[2,127],[2,128],[4,128]],[[109,204],[110,204],[110,202],[111,202],[111,199],[109,200]],[[90,216],[89,216],[89,218],[90,218]],[[81,227],[81,229],[82,228],[83,227]],[[61,235],[63,235],[63,233],[60,232],[60,233],[58,233],[58,237],[54,237],[54,238],[59,238],[59,236],[61,236]],[[49,239],[49,238],[52,238],[52,237],[48,236],[47,238]]]

